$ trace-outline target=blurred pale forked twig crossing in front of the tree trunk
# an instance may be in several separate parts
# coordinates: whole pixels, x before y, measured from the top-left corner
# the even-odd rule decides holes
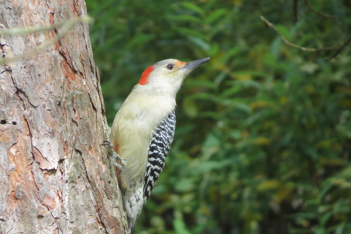
[[[49,46],[52,46],[53,44],[57,43],[60,38],[66,34],[66,32],[74,25],[77,24],[78,22],[84,22],[84,23],[89,23],[93,20],[93,18],[89,16],[85,17],[78,17],[74,19],[68,19],[62,23],[55,24],[52,26],[33,26],[33,27],[28,27],[28,28],[12,28],[12,29],[1,29],[0,30],[0,35],[19,35],[19,34],[29,34],[29,33],[36,33],[36,32],[45,32],[48,30],[54,30],[56,29],[56,35],[53,39],[47,41],[46,43],[42,44],[39,47],[34,48],[33,50],[24,53],[19,56],[13,56],[13,57],[2,57],[0,58],[0,64],[6,64],[18,59],[23,59],[27,58],[29,56],[32,56],[33,54],[38,54],[42,51],[44,51],[46,48]],[[59,32],[60,31],[60,32]]]

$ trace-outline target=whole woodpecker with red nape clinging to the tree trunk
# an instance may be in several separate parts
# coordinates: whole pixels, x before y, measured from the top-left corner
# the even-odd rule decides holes
[[[113,163],[132,232],[141,209],[164,167],[176,126],[176,94],[185,77],[208,61],[166,59],[149,66],[114,117]],[[118,161],[118,163],[116,162]]]

